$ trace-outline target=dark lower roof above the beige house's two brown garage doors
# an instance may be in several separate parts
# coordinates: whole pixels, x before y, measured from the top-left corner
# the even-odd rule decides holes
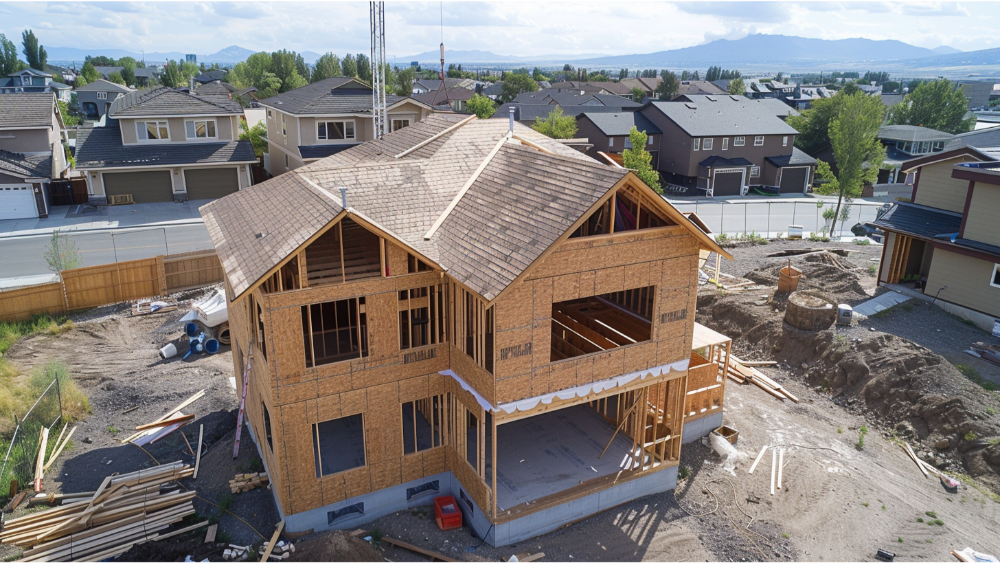
[[[122,144],[121,129],[118,127],[81,129],[76,139],[76,167],[87,170],[256,161],[250,141],[126,146]]]

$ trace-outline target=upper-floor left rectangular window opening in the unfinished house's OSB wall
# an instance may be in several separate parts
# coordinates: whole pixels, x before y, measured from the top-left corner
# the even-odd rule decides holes
[[[304,305],[302,334],[307,368],[368,356],[365,298]]]

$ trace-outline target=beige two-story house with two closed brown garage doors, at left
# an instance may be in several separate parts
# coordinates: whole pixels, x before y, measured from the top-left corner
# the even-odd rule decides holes
[[[76,169],[92,203],[131,196],[135,203],[215,199],[249,187],[257,162],[240,141],[243,108],[170,88],[116,99],[107,125],[81,129]]]

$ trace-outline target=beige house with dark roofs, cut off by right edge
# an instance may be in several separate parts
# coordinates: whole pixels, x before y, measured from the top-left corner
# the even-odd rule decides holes
[[[880,284],[907,284],[991,330],[1000,318],[1000,162],[972,147],[910,160],[909,202],[871,224],[886,231]]]

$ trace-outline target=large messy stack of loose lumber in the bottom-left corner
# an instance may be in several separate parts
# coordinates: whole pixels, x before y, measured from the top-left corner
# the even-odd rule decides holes
[[[100,561],[137,543],[155,541],[195,513],[193,491],[176,481],[193,470],[181,462],[104,479],[88,496],[63,498],[57,508],[4,523],[0,542],[25,549],[26,562]]]

